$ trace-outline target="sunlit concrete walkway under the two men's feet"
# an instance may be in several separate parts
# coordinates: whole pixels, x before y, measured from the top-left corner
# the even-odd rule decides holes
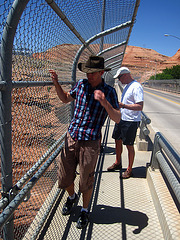
[[[113,127],[114,123],[110,121],[103,128],[104,151],[97,164],[90,224],[82,231],[76,228],[81,195],[71,215],[62,216],[62,205],[67,198],[65,193],[56,203],[53,217],[48,220],[41,239],[164,239],[146,179],[146,164],[151,152],[138,151],[135,145],[132,178],[120,179],[128,164],[126,148],[122,155],[123,170],[107,172],[107,167],[115,160],[115,144],[111,138]]]

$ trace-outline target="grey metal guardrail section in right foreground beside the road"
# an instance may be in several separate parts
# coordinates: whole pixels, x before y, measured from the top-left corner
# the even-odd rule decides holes
[[[162,170],[180,204],[180,156],[160,132],[155,134],[150,167]]]

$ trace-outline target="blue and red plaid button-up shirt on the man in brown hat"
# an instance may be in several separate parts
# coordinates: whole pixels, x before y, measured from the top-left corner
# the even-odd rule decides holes
[[[101,128],[108,114],[100,102],[94,99],[95,89],[101,90],[113,108],[119,109],[115,89],[104,80],[96,88],[92,88],[87,79],[79,80],[70,91],[76,102],[68,131],[75,141],[96,140],[101,137]]]

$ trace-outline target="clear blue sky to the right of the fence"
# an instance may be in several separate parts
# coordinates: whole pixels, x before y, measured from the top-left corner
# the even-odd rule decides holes
[[[180,48],[180,0],[141,0],[128,45],[173,56]]]

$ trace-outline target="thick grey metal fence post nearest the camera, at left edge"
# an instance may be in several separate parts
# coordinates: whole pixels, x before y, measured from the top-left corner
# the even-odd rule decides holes
[[[12,49],[16,28],[21,14],[29,0],[15,0],[7,17],[1,42],[0,81],[6,83],[0,92],[0,143],[2,195],[11,198],[12,188],[12,139],[11,139],[11,90],[12,90]],[[14,239],[14,224],[11,219],[3,228],[3,239]]]

